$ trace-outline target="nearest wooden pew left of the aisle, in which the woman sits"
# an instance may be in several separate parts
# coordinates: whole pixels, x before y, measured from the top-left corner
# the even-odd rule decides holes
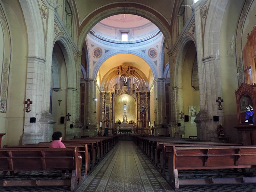
[[[0,148],[0,171],[72,170],[71,180],[0,180],[0,186],[70,185],[81,182],[82,160],[77,148]]]

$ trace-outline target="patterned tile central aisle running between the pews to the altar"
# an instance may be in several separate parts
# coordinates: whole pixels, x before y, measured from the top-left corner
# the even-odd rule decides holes
[[[173,191],[133,141],[119,141],[76,192]]]

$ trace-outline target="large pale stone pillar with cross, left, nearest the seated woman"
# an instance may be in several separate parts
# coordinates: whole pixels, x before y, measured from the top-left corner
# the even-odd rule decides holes
[[[52,140],[53,121],[50,108],[50,81],[52,71],[52,42],[54,35],[54,15],[57,5],[50,2],[47,14],[45,58],[28,56],[28,76],[26,99],[33,103],[31,111],[25,113],[22,144]],[[36,123],[30,123],[30,117],[36,117]]]

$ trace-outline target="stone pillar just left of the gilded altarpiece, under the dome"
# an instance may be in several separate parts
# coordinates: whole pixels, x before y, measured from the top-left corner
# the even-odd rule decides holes
[[[84,114],[84,135],[97,136],[96,125],[96,79],[85,79],[85,114]]]

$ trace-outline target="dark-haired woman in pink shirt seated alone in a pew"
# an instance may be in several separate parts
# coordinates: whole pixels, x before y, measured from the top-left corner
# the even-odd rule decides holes
[[[62,133],[57,131],[52,134],[52,142],[49,148],[66,148],[64,143],[61,142],[62,140]],[[66,170],[61,171],[61,179],[66,179]],[[71,179],[72,177],[72,170],[68,171],[68,178]]]

